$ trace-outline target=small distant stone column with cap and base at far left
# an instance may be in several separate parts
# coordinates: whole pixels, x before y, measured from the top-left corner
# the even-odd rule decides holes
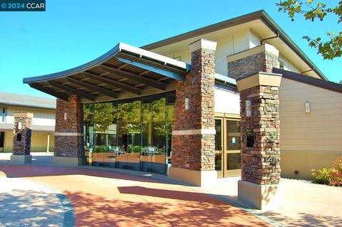
[[[28,164],[31,157],[33,113],[14,113],[13,152],[11,164]]]

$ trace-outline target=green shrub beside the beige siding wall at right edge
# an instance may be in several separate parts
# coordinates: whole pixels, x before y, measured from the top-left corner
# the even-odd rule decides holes
[[[342,157],[333,162],[333,167],[312,169],[313,183],[331,186],[342,186]]]

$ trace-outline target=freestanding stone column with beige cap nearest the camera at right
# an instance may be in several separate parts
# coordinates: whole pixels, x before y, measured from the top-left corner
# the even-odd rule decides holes
[[[239,200],[261,210],[281,206],[279,85],[281,75],[257,73],[237,80],[240,91],[242,180]],[[247,116],[246,100],[252,102]],[[254,144],[247,147],[247,131]]]

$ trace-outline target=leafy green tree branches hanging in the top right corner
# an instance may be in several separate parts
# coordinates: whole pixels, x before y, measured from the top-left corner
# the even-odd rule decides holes
[[[292,21],[296,14],[301,14],[306,20],[320,20],[328,15],[337,16],[337,23],[342,21],[342,1],[339,1],[337,6],[328,7],[322,1],[314,0],[285,0],[276,3],[279,11],[287,13]],[[333,58],[341,57],[342,55],[342,31],[338,31],[337,34],[332,31],[326,33],[326,37],[311,38],[309,36],[303,36],[308,42],[311,48],[316,48],[317,53],[323,56],[323,59],[332,60]]]

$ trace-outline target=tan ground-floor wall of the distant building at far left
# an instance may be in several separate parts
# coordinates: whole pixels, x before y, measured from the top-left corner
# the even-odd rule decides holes
[[[31,152],[46,152],[48,144],[48,134],[50,135],[50,152],[53,152],[55,145],[55,138],[53,132],[32,132],[31,137]],[[13,132],[5,132],[4,138],[4,152],[12,152],[13,146]],[[0,150],[1,151],[1,150]]]

